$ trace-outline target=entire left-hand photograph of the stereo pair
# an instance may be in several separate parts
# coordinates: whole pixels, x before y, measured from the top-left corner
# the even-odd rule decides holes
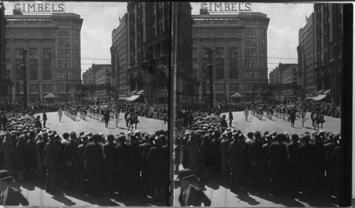
[[[1,205],[170,206],[171,7],[1,1]]]

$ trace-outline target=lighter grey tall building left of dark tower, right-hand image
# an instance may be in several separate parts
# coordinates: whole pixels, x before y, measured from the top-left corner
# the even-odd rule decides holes
[[[310,96],[312,94],[315,94],[315,57],[314,57],[314,47],[313,47],[313,40],[315,38],[315,33],[314,33],[314,13],[311,13],[309,17],[306,17],[306,25],[303,28],[300,28],[300,31],[298,31],[298,40],[300,46],[302,46],[302,60],[298,60],[299,62],[302,63],[302,79],[304,79],[304,68],[306,67],[306,77],[305,77],[305,82],[306,82],[306,87],[303,86],[303,89],[305,89],[305,94],[306,96]],[[304,63],[305,62],[305,63]],[[302,85],[304,83],[304,80],[300,82]]]

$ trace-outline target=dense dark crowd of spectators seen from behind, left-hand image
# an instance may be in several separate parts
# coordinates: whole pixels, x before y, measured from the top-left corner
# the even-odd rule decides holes
[[[50,193],[67,189],[89,197],[166,199],[168,131],[59,135],[41,128],[39,116],[6,119],[0,131],[0,169],[16,180],[37,182]]]

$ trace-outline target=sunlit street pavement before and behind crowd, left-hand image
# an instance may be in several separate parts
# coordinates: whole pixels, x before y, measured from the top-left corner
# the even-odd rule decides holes
[[[123,131],[127,133],[126,123],[124,121],[124,114],[120,115],[119,128],[116,128],[114,119],[109,122],[109,128],[104,127],[104,123],[100,120],[90,119],[87,117],[86,121],[80,119],[77,116],[77,121],[72,121],[69,117],[63,115],[62,122],[59,122],[58,112],[49,112],[47,114],[47,124],[46,127],[51,130],[57,131],[58,135],[62,136],[62,133],[70,133],[75,131],[77,134],[80,131],[87,133],[91,131],[92,133],[103,132],[105,135],[113,133],[114,135]],[[42,114],[35,114],[35,116],[40,115],[42,119]],[[156,119],[146,119],[145,117],[138,116],[138,130],[141,132],[154,133],[156,130],[168,128],[168,124],[164,124],[164,121]],[[42,122],[43,124],[43,122]],[[119,195],[113,196],[103,196],[99,198],[90,198],[83,192],[69,192],[66,189],[60,189],[59,192],[49,194],[45,192],[44,187],[38,185],[35,182],[12,182],[11,186],[21,190],[22,195],[24,195],[29,202],[31,207],[65,207],[65,206],[165,206],[165,202],[156,202],[152,199],[143,196],[131,196],[131,197],[121,197]]]

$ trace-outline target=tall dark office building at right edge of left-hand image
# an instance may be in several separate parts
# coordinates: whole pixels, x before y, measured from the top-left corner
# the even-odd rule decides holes
[[[129,94],[168,104],[170,2],[130,2],[126,24]]]

